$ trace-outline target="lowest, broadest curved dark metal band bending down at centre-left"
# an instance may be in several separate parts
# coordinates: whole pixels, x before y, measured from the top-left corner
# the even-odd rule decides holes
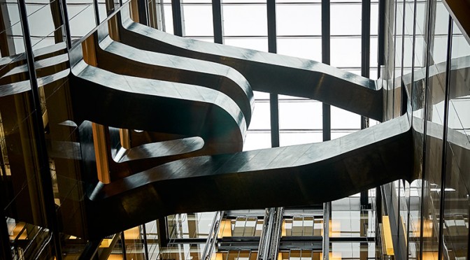
[[[225,94],[196,85],[115,74],[83,61],[72,72],[76,120],[199,136],[204,139],[205,154],[237,152],[243,147],[243,113]]]

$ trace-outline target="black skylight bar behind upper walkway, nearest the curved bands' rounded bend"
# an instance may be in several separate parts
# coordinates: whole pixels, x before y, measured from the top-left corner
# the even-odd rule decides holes
[[[268,51],[278,52],[276,33],[276,0],[267,0],[268,17]],[[279,99],[277,93],[269,94],[271,111],[271,147],[279,147]]]

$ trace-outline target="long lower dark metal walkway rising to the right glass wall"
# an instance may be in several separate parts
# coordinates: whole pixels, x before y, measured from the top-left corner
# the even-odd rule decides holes
[[[176,212],[310,205],[412,180],[411,138],[405,116],[324,143],[173,161],[97,186],[89,236]]]

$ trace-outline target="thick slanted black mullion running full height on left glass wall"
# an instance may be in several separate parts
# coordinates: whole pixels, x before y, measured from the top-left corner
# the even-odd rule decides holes
[[[33,109],[36,113],[31,115],[32,128],[34,131],[34,144],[36,145],[37,160],[39,172],[37,178],[41,187],[41,203],[45,210],[46,222],[48,229],[52,234],[52,241],[54,243],[54,253],[56,259],[62,259],[59,225],[57,222],[57,214],[55,212],[54,191],[52,189],[52,177],[50,175],[48,150],[44,136],[43,117],[41,114],[41,101],[38,92],[38,81],[36,76],[36,68],[34,67],[34,54],[31,43],[31,34],[29,32],[29,22],[27,16],[27,9],[25,1],[18,1],[18,8],[20,10],[20,21],[23,30],[24,40],[24,54],[26,55],[29,82],[31,84],[31,101]]]

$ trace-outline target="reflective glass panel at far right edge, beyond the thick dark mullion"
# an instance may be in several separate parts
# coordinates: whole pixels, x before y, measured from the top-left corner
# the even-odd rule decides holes
[[[453,46],[450,71],[450,103],[448,111],[446,192],[444,209],[444,248],[450,259],[467,257],[469,240],[469,167],[462,158],[468,157],[470,143],[470,96],[467,96],[470,68],[463,65],[470,57],[470,45],[453,24]]]

